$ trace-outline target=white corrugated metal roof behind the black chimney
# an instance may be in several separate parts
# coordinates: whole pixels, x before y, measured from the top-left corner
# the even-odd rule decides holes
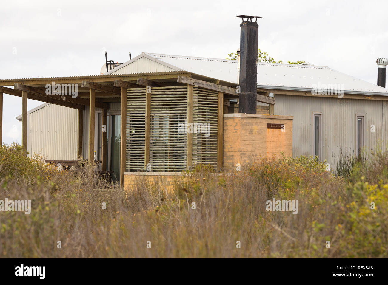
[[[142,53],[105,74],[186,71],[237,84],[237,60]],[[388,95],[388,89],[327,66],[258,62],[257,87],[311,92],[331,86],[344,93]]]

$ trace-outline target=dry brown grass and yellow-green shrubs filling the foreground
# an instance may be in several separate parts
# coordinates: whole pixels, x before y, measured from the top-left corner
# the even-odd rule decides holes
[[[349,182],[312,158],[252,162],[223,177],[199,167],[170,193],[160,180],[126,192],[88,165],[39,168],[40,177],[1,174],[0,199],[33,208],[0,212],[2,257],[388,257],[388,178]],[[298,214],[266,211],[272,197],[298,200]]]

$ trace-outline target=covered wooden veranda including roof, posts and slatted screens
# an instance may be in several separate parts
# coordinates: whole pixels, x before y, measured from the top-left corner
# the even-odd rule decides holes
[[[102,109],[107,125],[109,105],[120,103],[120,183],[125,171],[182,171],[199,163],[223,168],[223,114],[229,99],[239,97],[233,83],[186,72],[107,74],[57,78],[0,80],[0,127],[3,93],[22,98],[22,146],[27,152],[27,99],[78,109],[78,156],[94,161],[95,110]],[[47,94],[46,85],[77,85],[78,94]],[[13,86],[13,88],[7,87]],[[275,99],[258,90],[257,100],[270,105]],[[88,106],[88,130],[83,130]],[[125,119],[124,119],[125,118]],[[55,119],[55,117],[54,117]],[[178,131],[178,124],[208,124],[208,133]],[[44,122],[42,122],[44,123]],[[87,132],[88,150],[83,152]],[[2,143],[0,131],[0,142]],[[107,133],[102,142],[101,170],[107,169]],[[147,168],[148,167],[148,168]]]

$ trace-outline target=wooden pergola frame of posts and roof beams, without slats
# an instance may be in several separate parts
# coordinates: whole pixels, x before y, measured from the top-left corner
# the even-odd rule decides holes
[[[163,74],[137,74],[123,76],[111,74],[101,76],[85,76],[71,78],[36,78],[36,79],[7,79],[0,80],[0,143],[2,143],[2,101],[3,93],[22,97],[22,146],[23,153],[27,152],[27,98],[62,105],[79,110],[78,116],[78,156],[82,156],[83,146],[83,110],[89,106],[89,151],[87,159],[94,161],[94,130],[95,108],[102,109],[102,124],[107,124],[107,111],[109,102],[121,102],[121,147],[120,147],[120,183],[124,185],[124,172],[126,168],[126,90],[144,86],[176,86],[187,85],[187,123],[193,122],[193,87],[194,85],[218,92],[218,137],[217,137],[217,171],[222,170],[223,164],[223,105],[225,100],[238,98],[237,88],[220,85],[220,80],[205,78],[185,72],[168,72]],[[66,96],[65,100],[59,95],[47,95],[46,84],[78,84],[78,97]],[[232,85],[229,83],[229,85]],[[258,90],[257,100],[273,106],[275,99],[268,97],[268,92]],[[270,108],[271,110],[271,108]],[[273,108],[272,108],[273,110]],[[273,112],[273,111],[272,111]],[[145,165],[149,162],[150,155],[150,122],[151,122],[151,93],[146,94],[145,114]],[[107,133],[102,132],[102,170],[107,168]],[[192,165],[192,134],[187,134],[187,168]]]

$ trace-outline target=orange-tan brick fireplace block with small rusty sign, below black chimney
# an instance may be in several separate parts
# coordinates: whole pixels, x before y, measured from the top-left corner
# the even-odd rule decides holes
[[[284,124],[284,131],[267,129],[267,123]],[[223,168],[281,152],[292,157],[292,123],[292,116],[224,114]]]

